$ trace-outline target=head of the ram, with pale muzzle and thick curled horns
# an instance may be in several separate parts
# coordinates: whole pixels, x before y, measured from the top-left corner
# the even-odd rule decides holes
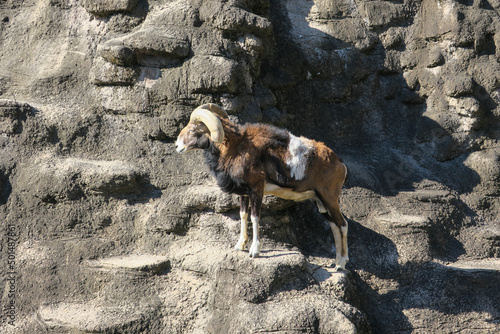
[[[204,149],[209,141],[222,143],[224,129],[219,119],[227,118],[227,114],[219,106],[208,103],[199,106],[191,113],[188,125],[182,129],[175,142],[177,152]]]

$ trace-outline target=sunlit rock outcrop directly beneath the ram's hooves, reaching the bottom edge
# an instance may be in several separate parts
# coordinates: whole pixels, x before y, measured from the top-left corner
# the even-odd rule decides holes
[[[215,275],[209,333],[370,332],[363,315],[352,306],[326,295],[299,292],[312,278],[299,253],[268,252],[257,261],[229,255]],[[241,317],[226,317],[227,312],[238,312]]]

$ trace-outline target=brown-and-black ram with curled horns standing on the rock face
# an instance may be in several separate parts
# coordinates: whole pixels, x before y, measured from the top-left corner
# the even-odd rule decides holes
[[[250,256],[255,258],[260,254],[259,218],[264,195],[294,201],[311,199],[330,223],[336,269],[345,269],[348,228],[339,197],[347,167],[325,144],[271,125],[236,125],[219,106],[209,103],[192,112],[175,146],[179,153],[204,150],[218,185],[240,196],[241,233],[236,249],[244,250],[248,243],[249,203],[253,227]]]

